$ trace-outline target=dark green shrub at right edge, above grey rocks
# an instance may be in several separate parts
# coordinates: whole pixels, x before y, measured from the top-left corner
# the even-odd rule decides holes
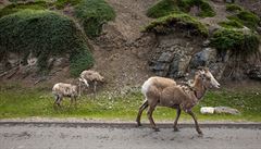
[[[211,45],[219,51],[231,50],[236,55],[248,55],[257,52],[259,44],[258,35],[238,29],[219,29],[211,38]]]

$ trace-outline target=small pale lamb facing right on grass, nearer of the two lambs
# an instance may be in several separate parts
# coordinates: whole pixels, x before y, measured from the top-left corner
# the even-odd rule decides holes
[[[86,85],[87,87],[89,84],[83,79],[78,78],[78,84],[77,85],[72,85],[72,84],[64,84],[64,83],[58,83],[52,87],[52,94],[55,97],[54,104],[58,104],[61,107],[61,101],[63,97],[70,97],[71,98],[71,104],[76,103],[76,98],[80,96],[80,87],[82,84]]]

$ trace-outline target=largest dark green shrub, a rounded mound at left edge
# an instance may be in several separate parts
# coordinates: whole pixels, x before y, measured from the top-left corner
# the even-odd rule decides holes
[[[51,11],[23,10],[1,17],[0,53],[4,58],[9,52],[24,57],[24,60],[29,53],[37,57],[40,72],[49,69],[47,61],[55,55],[70,54],[71,64],[77,63],[78,59],[84,61],[83,57],[86,57],[82,69],[87,69],[94,63],[75,23]],[[77,67],[79,65],[75,66],[71,69],[80,70]]]

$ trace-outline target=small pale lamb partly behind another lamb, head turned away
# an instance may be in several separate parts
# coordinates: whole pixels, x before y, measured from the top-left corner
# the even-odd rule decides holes
[[[86,79],[94,87],[95,94],[96,94],[97,84],[104,82],[103,76],[101,76],[98,72],[91,71],[91,70],[82,72],[79,76],[83,79]]]

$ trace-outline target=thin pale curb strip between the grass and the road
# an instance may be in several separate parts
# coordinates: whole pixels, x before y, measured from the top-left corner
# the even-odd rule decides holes
[[[112,128],[136,128],[136,123],[132,122],[9,122],[0,121],[1,125],[17,126],[17,125],[33,125],[33,126],[61,126],[61,127],[112,127]],[[172,128],[173,123],[158,123],[160,128]],[[200,123],[200,127],[236,127],[236,128],[258,128],[261,129],[261,123]],[[150,127],[149,123],[144,123],[140,128]],[[195,127],[194,123],[179,123],[178,127]]]

